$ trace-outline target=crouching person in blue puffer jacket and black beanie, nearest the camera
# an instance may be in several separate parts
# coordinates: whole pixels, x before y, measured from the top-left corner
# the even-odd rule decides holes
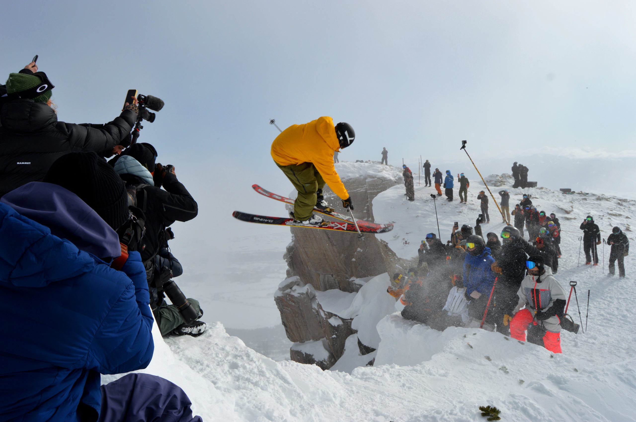
[[[119,176],[76,152],[45,181],[0,199],[0,239],[11,239],[0,242],[0,419],[192,420],[190,400],[165,379],[129,374],[100,388],[100,373],[143,369],[154,350],[141,256],[110,267],[121,254],[114,229],[129,218]]]

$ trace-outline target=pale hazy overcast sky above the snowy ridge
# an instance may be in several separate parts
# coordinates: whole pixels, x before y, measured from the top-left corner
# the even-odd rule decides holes
[[[273,118],[281,128],[321,115],[349,122],[356,142],[341,160],[379,160],[387,147],[391,164],[404,158],[415,171],[421,154],[474,178],[459,150],[466,139],[485,175],[518,161],[539,186],[633,195],[635,9],[581,0],[13,1],[3,3],[0,75],[38,54],[67,122],[112,120],[129,88],[163,98],[140,142],[176,166],[201,206],[188,223],[199,237],[176,244],[222,249],[237,234],[281,230],[230,216],[284,214],[250,187],[291,190],[270,157]]]

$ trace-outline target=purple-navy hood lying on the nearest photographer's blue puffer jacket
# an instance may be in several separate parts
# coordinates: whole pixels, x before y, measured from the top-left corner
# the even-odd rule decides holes
[[[81,251],[97,258],[121,255],[119,237],[113,228],[78,195],[59,185],[32,181],[4,195],[0,202],[48,227],[51,234],[67,239]]]

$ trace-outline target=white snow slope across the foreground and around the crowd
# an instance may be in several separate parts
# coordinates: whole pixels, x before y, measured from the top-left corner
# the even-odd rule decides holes
[[[373,204],[378,221],[396,221],[394,232],[384,238],[408,258],[417,256],[422,235],[436,226],[431,198],[419,190],[411,204],[401,189],[378,195]],[[474,222],[478,190],[473,181],[473,203],[466,206],[438,201],[442,239],[453,221]],[[636,324],[636,265],[626,258],[625,280],[606,277],[601,266],[576,266],[584,216],[597,218],[605,238],[612,225],[626,227],[636,204],[602,195],[531,192],[539,209],[562,218],[563,258],[556,278],[566,287],[569,280],[579,283],[583,320],[586,290],[591,291],[588,331],[563,332],[562,355],[478,329],[433,331],[392,314],[377,324],[381,341],[375,354],[359,355],[355,335],[347,339],[350,359],[336,365],[340,371],[275,362],[212,322],[199,338],[163,343],[156,335],[155,357],[146,372],[183,386],[205,421],[483,421],[478,406],[486,404],[499,407],[506,421],[636,421],[636,334],[630,329]],[[502,227],[496,216],[492,221],[484,233]],[[633,242],[632,232],[626,233]],[[354,300],[343,296],[334,303],[346,310]],[[570,313],[578,322],[574,298]],[[375,366],[364,367],[373,357]]]

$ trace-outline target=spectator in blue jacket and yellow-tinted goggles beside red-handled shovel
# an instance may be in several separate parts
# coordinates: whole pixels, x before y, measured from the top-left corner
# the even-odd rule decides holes
[[[490,268],[495,259],[492,258],[490,248],[479,235],[468,237],[466,250],[468,253],[464,258],[464,287],[466,287],[466,299],[471,301],[468,313],[481,322],[495,280],[495,274]],[[492,315],[492,312],[490,313]]]

